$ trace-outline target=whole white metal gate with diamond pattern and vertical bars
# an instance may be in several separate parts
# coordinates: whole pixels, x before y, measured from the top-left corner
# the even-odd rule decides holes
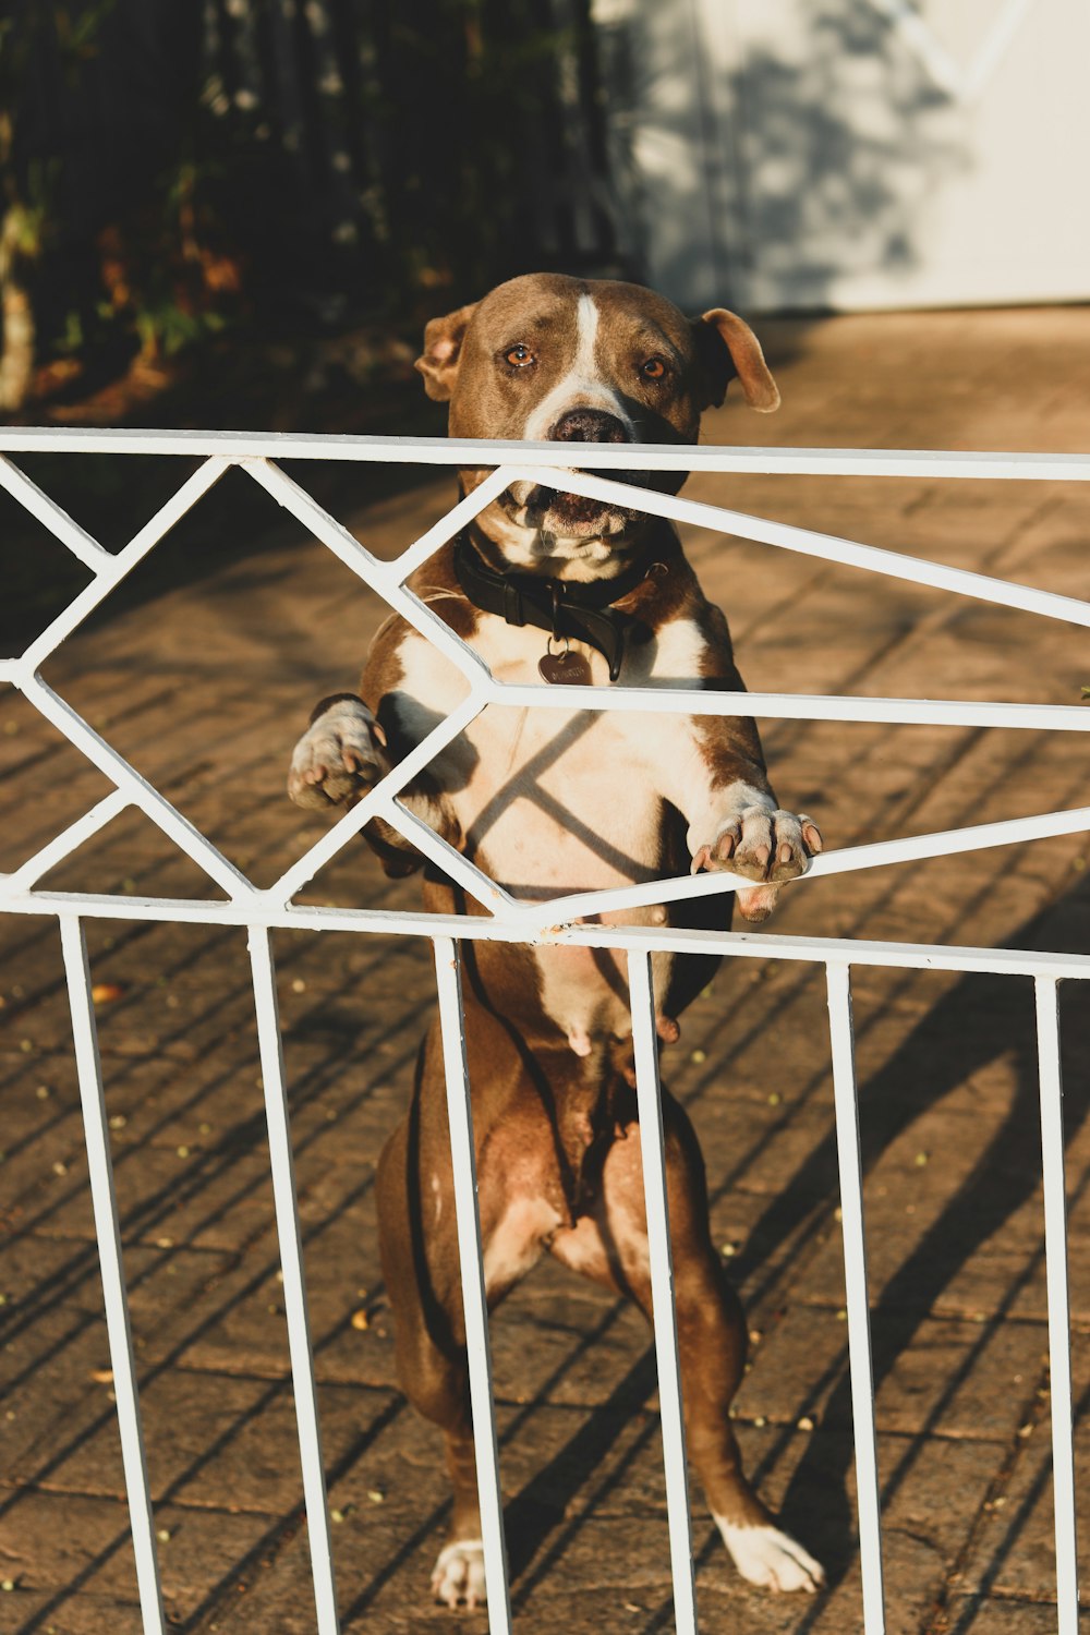
[[[3,453],[44,450],[54,453],[78,451],[101,455],[198,455],[204,456],[204,463],[181,484],[157,515],[141,528],[124,549],[111,554],[85,533]],[[360,544],[342,523],[330,517],[306,489],[281,471],[275,463],[278,458],[395,461],[435,466],[461,464],[472,468],[487,468],[497,461],[503,464],[469,499],[454,505],[441,522],[410,544],[394,562],[382,562]],[[307,1324],[299,1215],[293,1176],[284,1059],[276,1010],[276,971],[271,950],[271,932],[275,929],[304,927],[364,934],[392,932],[409,937],[427,937],[435,948],[454,1158],[469,1380],[484,1522],[489,1622],[495,1635],[500,1635],[500,1632],[508,1635],[510,1632],[510,1594],[507,1584],[495,1421],[492,1413],[489,1321],[476,1205],[472,1107],[462,1041],[461,984],[458,976],[459,940],[492,938],[500,942],[567,943],[623,950],[628,956],[639,1117],[646,1136],[652,1136],[644,1143],[644,1189],[652,1261],[655,1351],[662,1398],[675,1620],[678,1632],[683,1632],[683,1635],[691,1635],[696,1630],[696,1597],[677,1321],[672,1295],[670,1221],[665,1197],[650,955],[659,950],[673,950],[678,953],[701,952],[732,958],[806,960],[825,966],[840,1154],[848,1351],[855,1416],[866,1635],[878,1635],[884,1628],[884,1604],[850,966],[882,965],[1033,976],[1038,1002],[1041,1141],[1046,1202],[1057,1627],[1059,1635],[1077,1635],[1079,1586],[1057,983],[1062,979],[1088,979],[1090,955],[1028,953],[1005,948],[948,948],[825,937],[773,937],[748,932],[670,930],[642,925],[575,924],[575,919],[587,912],[732,891],[739,885],[745,885],[745,881],[732,875],[701,875],[698,878],[685,876],[613,891],[577,893],[554,898],[544,904],[520,903],[413,818],[399,801],[399,793],[489,703],[525,705],[528,708],[544,706],[551,710],[556,710],[557,705],[570,703],[577,710],[776,716],[796,721],[889,721],[902,724],[1028,728],[1048,732],[1090,731],[1090,708],[1059,705],[838,698],[781,693],[706,693],[683,688],[503,685],[489,674],[480,657],[466,643],[405,589],[405,580],[412,571],[427,561],[440,544],[453,538],[510,482],[531,476],[533,479],[554,481],[556,486],[575,494],[619,499],[624,505],[634,505],[647,513],[667,517],[680,523],[714,528],[788,551],[820,556],[825,561],[860,567],[868,572],[907,579],[917,585],[933,585],[1003,607],[1023,608],[1048,618],[1090,626],[1090,603],[1083,600],[1034,590],[1028,585],[1010,584],[1000,579],[989,579],[982,574],[900,556],[894,551],[874,549],[806,528],[747,517],[717,505],[657,494],[647,489],[632,489],[611,481],[608,476],[595,476],[598,471],[631,471],[634,466],[639,466],[646,471],[760,471],[783,476],[806,473],[840,477],[1003,477],[1087,482],[1090,481],[1090,458],[1069,455],[896,453],[884,450],[690,446],[642,446],[634,450],[631,446],[582,445],[579,458],[590,469],[580,473],[557,473],[554,468],[556,458],[557,448],[554,443],[513,445],[469,443],[443,438],[302,437],[240,432],[0,430],[0,484],[28,512],[42,522],[93,574],[87,589],[52,620],[47,629],[20,657],[0,662],[0,682],[10,682],[16,687],[47,721],[106,775],[114,790],[62,834],[56,835],[34,857],[21,863],[20,868],[0,876],[0,911],[54,916],[60,927],[145,1635],[165,1635],[165,1625],[141,1431],[139,1393],[129,1337],[121,1236],[113,1192],[113,1167],[98,1038],[90,997],[83,919],[186,921],[204,925],[248,927],[319,1635],[335,1635],[338,1615]],[[147,783],[39,675],[44,659],[72,634],[114,585],[163,538],[168,528],[232,466],[240,466],[260,482],[273,499],[286,507],[315,538],[327,544],[342,562],[366,580],[392,608],[402,613],[410,625],[446,654],[469,682],[466,700],[268,889],[258,889],[247,880],[204,834],[188,822],[159,790]],[[284,746],[284,749],[288,750],[289,746]],[[139,808],[159,824],[221,886],[227,899],[194,901],[190,898],[136,898],[34,889],[36,881],[47,870],[127,806]],[[487,917],[296,906],[293,901],[296,893],[376,816],[391,822],[451,880],[464,886],[489,911]],[[1088,829],[1090,806],[1083,806],[1074,811],[981,824],[972,829],[848,847],[842,852],[829,852],[814,858],[804,880],[855,868],[874,868],[894,862],[918,862],[954,852],[1008,845],[1015,840],[1075,834]],[[654,1138],[655,1135],[657,1140]]]

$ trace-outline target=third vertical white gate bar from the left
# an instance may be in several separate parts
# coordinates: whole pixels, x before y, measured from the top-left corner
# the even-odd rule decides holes
[[[503,1537],[503,1494],[500,1454],[492,1406],[492,1351],[489,1346],[489,1305],[484,1285],[484,1251],[477,1213],[477,1156],[472,1133],[472,1102],[466,1064],[466,1017],[462,1012],[461,961],[451,937],[435,938],[435,976],[440,992],[443,1066],[446,1069],[446,1117],[451,1128],[454,1167],[454,1215],[458,1218],[458,1259],[466,1311],[469,1357],[469,1401],[472,1406],[480,1498],[480,1540],[489,1592],[492,1635],[510,1635],[511,1592],[507,1583],[507,1540]]]

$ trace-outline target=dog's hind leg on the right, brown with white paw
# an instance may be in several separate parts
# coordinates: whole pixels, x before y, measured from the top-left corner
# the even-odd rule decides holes
[[[729,1411],[745,1370],[745,1316],[711,1241],[704,1164],[693,1127],[665,1091],[662,1110],[688,1454],[742,1576],[770,1589],[814,1591],[825,1581],[822,1566],[776,1527],[742,1470]],[[572,1230],[557,1233],[551,1248],[565,1265],[629,1295],[650,1319],[637,1123],[629,1123],[610,1148],[590,1212]]]

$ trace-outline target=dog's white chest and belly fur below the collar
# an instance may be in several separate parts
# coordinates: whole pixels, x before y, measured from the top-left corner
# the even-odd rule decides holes
[[[484,621],[474,646],[503,682],[539,682],[546,638]],[[605,659],[587,647],[593,680]],[[400,649],[397,713],[418,739],[466,693],[454,667],[417,636]],[[683,626],[626,667],[632,685],[678,685],[696,674],[696,633]],[[466,855],[511,896],[549,901],[570,891],[654,880],[660,871],[662,796],[655,765],[677,755],[677,716],[489,706],[431,765]],[[655,917],[628,912],[626,921]],[[538,948],[546,1012],[585,1055],[603,1033],[628,1033],[624,974],[611,956]]]

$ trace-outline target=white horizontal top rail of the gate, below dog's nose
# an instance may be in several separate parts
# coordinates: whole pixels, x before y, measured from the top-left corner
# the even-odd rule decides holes
[[[364,437],[340,432],[165,432],[98,427],[0,427],[0,453],[221,455],[226,459],[351,459],[418,466],[494,466],[518,450],[520,464],[556,466],[557,445],[454,437]],[[587,471],[628,471],[631,443],[580,443]],[[938,448],[755,448],[641,443],[646,471],[791,474],[817,477],[981,477],[1090,482],[1090,453],[1041,455]]]

